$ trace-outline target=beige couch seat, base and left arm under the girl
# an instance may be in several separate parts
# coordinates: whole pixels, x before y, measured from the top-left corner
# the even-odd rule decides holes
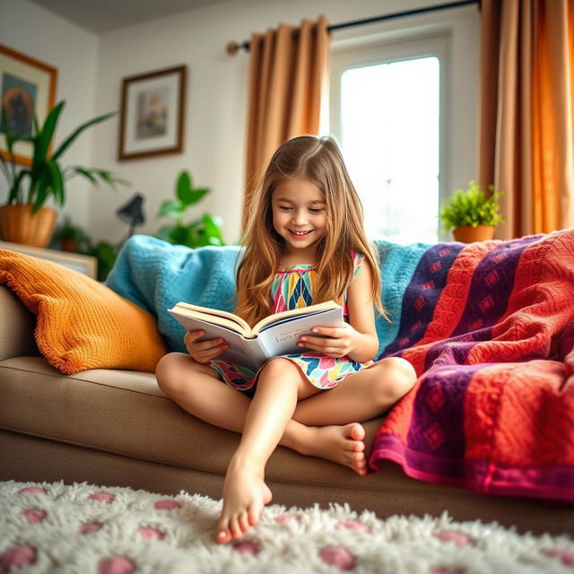
[[[187,414],[150,373],[87,370],[64,376],[39,356],[35,317],[0,285],[0,479],[118,485],[219,499],[238,435]],[[374,433],[380,420],[368,423]],[[278,448],[267,466],[274,502],[306,507],[348,502],[389,514],[444,510],[455,518],[574,532],[574,509],[488,497],[408,478],[387,463],[361,477],[343,466]]]

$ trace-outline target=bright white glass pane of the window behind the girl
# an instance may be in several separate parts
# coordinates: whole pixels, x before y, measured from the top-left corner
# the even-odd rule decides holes
[[[439,239],[439,59],[346,70],[341,147],[370,239]]]

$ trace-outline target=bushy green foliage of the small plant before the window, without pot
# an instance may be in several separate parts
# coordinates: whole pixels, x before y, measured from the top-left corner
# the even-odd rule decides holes
[[[502,192],[494,192],[492,185],[488,189],[491,192],[490,195],[487,195],[474,180],[470,181],[467,189],[457,189],[455,195],[440,210],[440,220],[445,231],[462,225],[494,227],[503,222],[498,203]]]

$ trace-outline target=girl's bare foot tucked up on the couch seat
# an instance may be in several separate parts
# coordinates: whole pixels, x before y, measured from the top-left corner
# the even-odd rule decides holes
[[[326,458],[349,466],[357,474],[367,474],[365,430],[358,422],[344,426],[306,427],[296,449],[302,455]]]

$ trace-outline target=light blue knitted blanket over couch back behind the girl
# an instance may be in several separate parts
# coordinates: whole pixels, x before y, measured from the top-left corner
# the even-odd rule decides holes
[[[377,241],[380,252],[383,304],[391,324],[377,319],[382,351],[395,339],[403,295],[428,245],[399,246]],[[148,235],[134,235],[121,249],[106,284],[157,317],[170,351],[184,352],[184,329],[167,313],[179,301],[233,311],[235,272],[241,257],[237,246],[190,249]]]

